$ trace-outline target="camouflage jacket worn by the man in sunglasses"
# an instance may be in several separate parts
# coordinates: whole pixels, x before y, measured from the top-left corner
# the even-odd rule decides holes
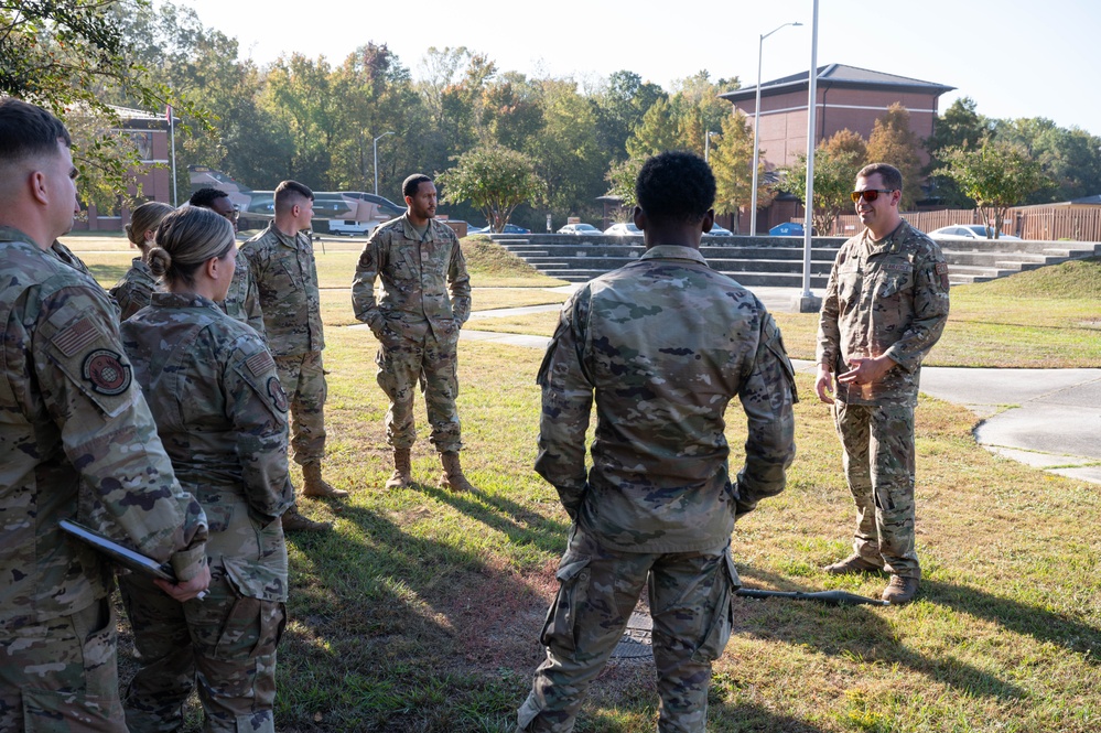
[[[830,271],[818,325],[817,363],[833,374],[849,356],[886,354],[898,366],[872,385],[838,382],[851,405],[917,403],[921,360],[948,321],[948,265],[929,237],[906,222],[875,241],[864,229],[841,246]]]

